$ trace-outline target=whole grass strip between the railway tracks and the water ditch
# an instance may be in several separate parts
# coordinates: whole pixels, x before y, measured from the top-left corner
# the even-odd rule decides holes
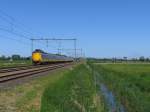
[[[0,89],[0,112],[104,112],[102,98],[86,65],[50,74]]]

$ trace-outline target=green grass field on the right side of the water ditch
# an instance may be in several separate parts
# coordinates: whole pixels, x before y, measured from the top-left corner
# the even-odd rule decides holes
[[[95,70],[127,112],[150,112],[149,64],[97,64]]]

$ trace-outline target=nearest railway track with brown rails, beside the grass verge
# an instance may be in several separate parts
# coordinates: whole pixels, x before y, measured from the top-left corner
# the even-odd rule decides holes
[[[42,72],[65,67],[65,66],[71,65],[71,64],[72,63],[45,65],[45,66],[38,66],[38,67],[34,67],[34,68],[20,69],[20,70],[17,69],[15,71],[11,71],[11,72],[8,71],[8,72],[0,73],[0,83],[5,83],[8,81],[13,81],[15,79],[36,75],[36,74],[39,74]]]

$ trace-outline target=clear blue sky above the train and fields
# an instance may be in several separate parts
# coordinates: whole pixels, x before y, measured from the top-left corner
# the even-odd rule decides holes
[[[0,55],[31,55],[26,37],[77,38],[87,57],[149,57],[150,1],[0,0]],[[57,47],[57,42],[34,44],[47,52]]]

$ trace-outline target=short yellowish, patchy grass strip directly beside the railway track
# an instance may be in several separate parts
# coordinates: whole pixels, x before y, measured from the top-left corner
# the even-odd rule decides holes
[[[71,68],[65,68],[52,71],[50,75],[0,90],[0,112],[39,112],[45,87],[57,82],[70,70]]]

